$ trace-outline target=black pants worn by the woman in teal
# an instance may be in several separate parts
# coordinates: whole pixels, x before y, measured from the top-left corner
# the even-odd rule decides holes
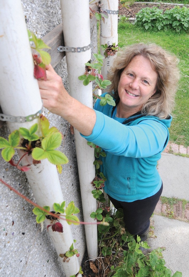
[[[132,235],[142,235],[150,226],[150,217],[155,210],[162,190],[163,183],[160,190],[153,196],[133,202],[122,202],[109,195],[108,197],[116,209],[123,209],[125,227],[129,233]]]

